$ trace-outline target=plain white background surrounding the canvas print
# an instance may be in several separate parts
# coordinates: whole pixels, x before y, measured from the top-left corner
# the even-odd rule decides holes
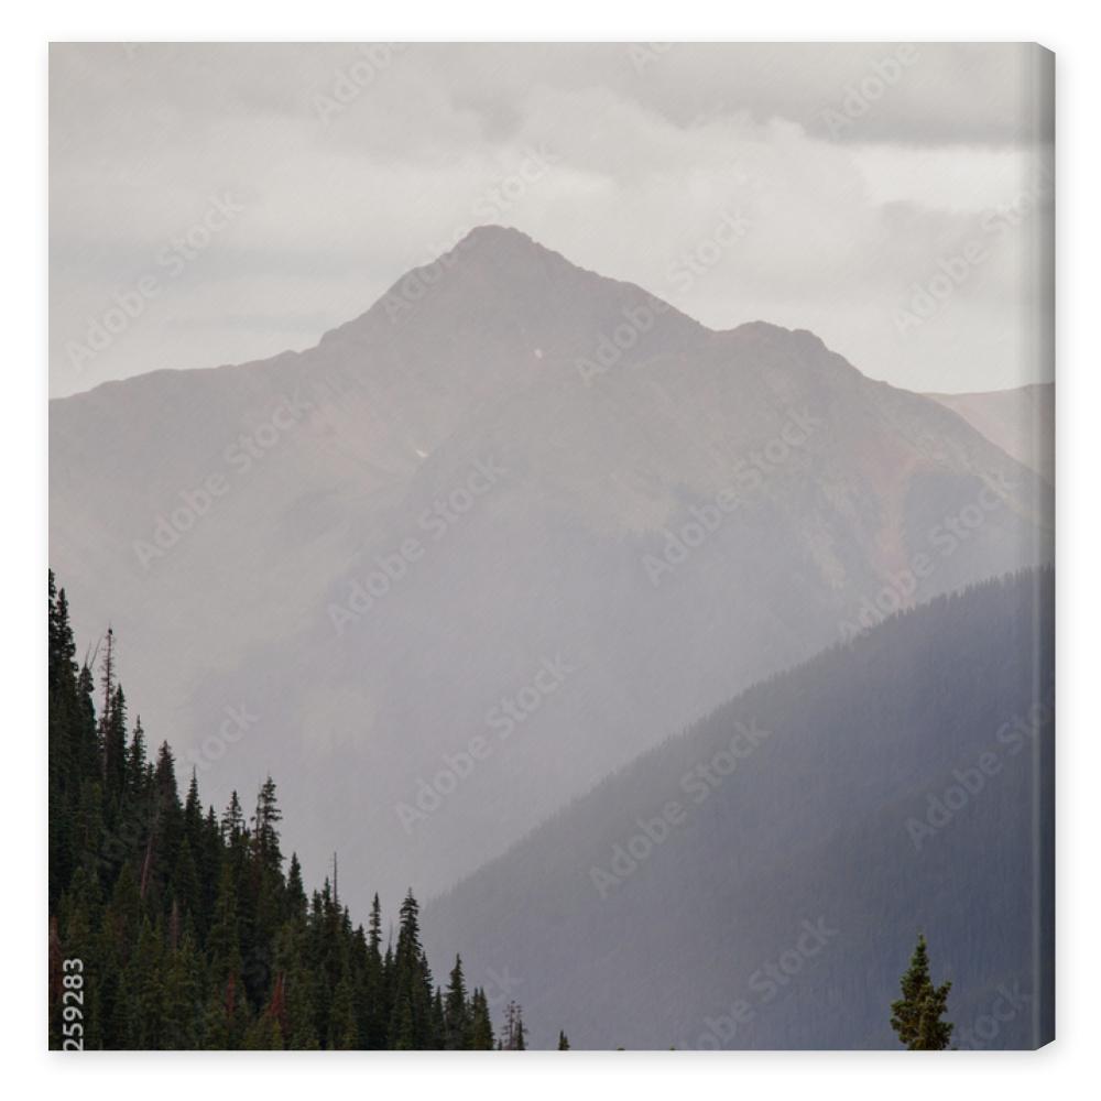
[[[3,385],[6,767],[0,806],[8,839],[3,913],[3,1079],[73,1099],[453,1095],[552,1098],[564,1091],[672,1095],[937,1097],[1012,1099],[1097,1082],[1099,892],[1095,807],[1101,782],[1090,691],[1098,613],[1097,377],[1101,57],[1095,6],[879,2],[548,6],[453,0],[369,6],[362,0],[235,4],[189,0],[8,6],[2,35],[4,232]],[[531,1053],[524,1056],[336,1054],[86,1055],[45,1051],[46,1021],[46,50],[53,40],[820,40],[1038,41],[1058,55],[1058,1039],[1035,1053],[950,1055]],[[966,105],[961,105],[966,110]],[[155,610],[151,610],[153,612]],[[1091,676],[1091,674],[1093,674]],[[33,1077],[35,1086],[20,1080]],[[44,1079],[44,1080],[43,1080]],[[1077,1091],[1076,1091],[1077,1092]]]

